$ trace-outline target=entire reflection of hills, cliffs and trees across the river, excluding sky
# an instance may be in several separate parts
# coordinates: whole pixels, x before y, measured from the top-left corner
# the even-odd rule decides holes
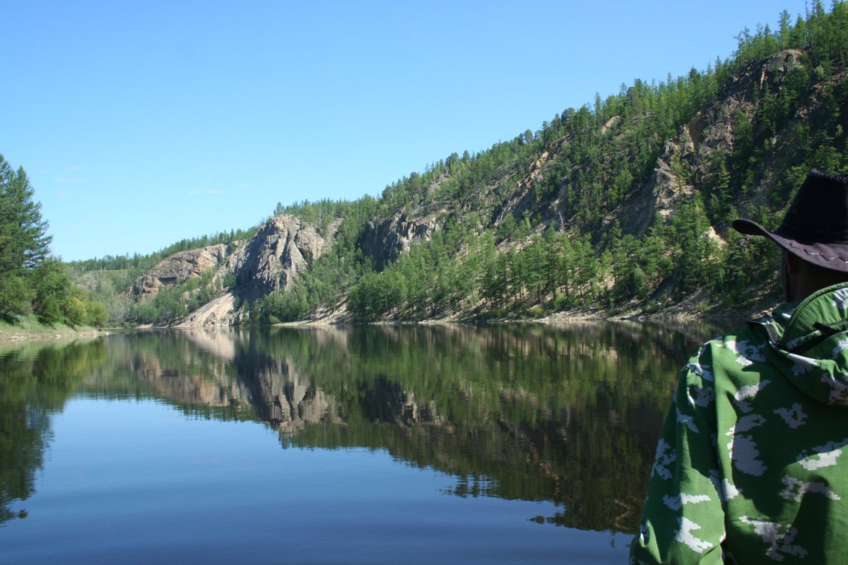
[[[554,501],[533,517],[633,532],[674,377],[715,333],[642,324],[128,332],[0,353],[0,521],[31,496],[71,394],[259,420],[282,446],[390,452],[455,496]],[[532,518],[532,517],[528,517]]]

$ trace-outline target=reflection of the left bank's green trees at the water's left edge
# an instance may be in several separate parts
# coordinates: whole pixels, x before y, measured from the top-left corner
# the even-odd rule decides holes
[[[0,523],[25,518],[25,510],[13,507],[35,490],[51,437],[50,414],[105,355],[101,341],[0,352]]]

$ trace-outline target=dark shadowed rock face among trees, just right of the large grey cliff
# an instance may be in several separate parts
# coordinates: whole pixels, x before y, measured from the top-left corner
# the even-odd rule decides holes
[[[381,271],[387,264],[408,251],[413,241],[429,240],[436,229],[436,219],[410,219],[404,213],[396,213],[379,224],[369,222],[358,244],[362,252],[374,261],[374,268]]]

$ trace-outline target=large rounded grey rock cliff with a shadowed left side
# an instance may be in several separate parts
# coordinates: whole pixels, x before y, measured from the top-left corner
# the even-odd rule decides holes
[[[312,224],[288,215],[269,219],[232,260],[238,296],[254,300],[290,289],[329,246]]]

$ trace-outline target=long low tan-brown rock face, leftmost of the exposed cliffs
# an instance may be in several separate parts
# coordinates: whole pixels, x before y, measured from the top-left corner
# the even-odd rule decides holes
[[[138,299],[153,298],[163,286],[179,285],[197,278],[205,271],[217,267],[226,258],[224,244],[176,252],[156,264],[132,283],[132,296]]]

